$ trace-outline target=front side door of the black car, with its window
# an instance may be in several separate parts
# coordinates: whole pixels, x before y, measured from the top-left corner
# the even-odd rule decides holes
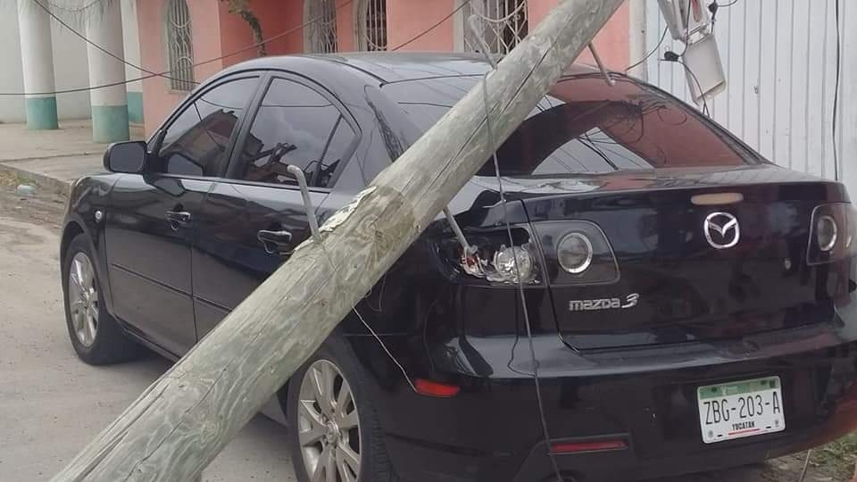
[[[257,75],[196,93],[150,145],[144,175],[123,176],[105,220],[114,314],[167,351],[196,343],[190,239],[204,196],[226,168]]]

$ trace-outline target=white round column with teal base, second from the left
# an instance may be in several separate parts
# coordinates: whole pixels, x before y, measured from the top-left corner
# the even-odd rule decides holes
[[[89,19],[87,37],[116,58],[96,46],[87,45],[89,84],[92,86],[125,81],[125,63],[118,60],[124,59],[121,2],[104,2],[103,9],[100,14],[93,14]],[[106,143],[129,139],[128,96],[125,89],[125,84],[120,84],[90,91],[94,141]]]

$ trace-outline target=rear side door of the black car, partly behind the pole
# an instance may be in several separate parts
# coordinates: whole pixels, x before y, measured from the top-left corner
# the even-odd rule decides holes
[[[193,249],[194,304],[202,338],[310,236],[304,170],[318,208],[356,148],[357,125],[324,88],[276,74],[239,138],[226,179],[206,198]]]

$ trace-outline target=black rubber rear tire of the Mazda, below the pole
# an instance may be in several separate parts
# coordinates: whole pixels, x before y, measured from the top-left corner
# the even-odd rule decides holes
[[[307,423],[311,416],[323,416],[320,409],[320,403],[317,398],[309,396],[307,386],[304,382],[311,383],[312,379],[324,378],[326,369],[329,369],[334,376],[334,384],[332,393],[333,398],[338,398],[341,395],[342,389],[346,386],[350,388],[353,405],[345,403],[345,410],[342,407],[334,406],[333,410],[340,411],[339,415],[335,415],[330,419],[337,422],[344,418],[343,413],[351,415],[348,410],[351,406],[356,409],[358,426],[357,428],[347,427],[340,428],[340,432],[349,430],[350,434],[330,434],[331,428],[328,430],[327,440],[325,443],[322,439],[317,445],[303,444],[310,442],[312,433],[312,423]],[[316,377],[316,378],[313,378]],[[287,422],[288,422],[288,445],[292,456],[292,461],[295,466],[295,474],[300,482],[310,482],[313,478],[309,472],[311,466],[320,465],[322,453],[325,447],[332,447],[330,453],[334,454],[334,463],[337,470],[344,470],[337,463],[339,460],[339,450],[342,444],[347,445],[354,453],[354,434],[359,434],[359,472],[356,480],[359,482],[394,482],[395,478],[387,451],[384,443],[384,432],[380,428],[378,422],[378,413],[372,403],[369,390],[367,389],[365,374],[360,367],[357,357],[351,349],[351,346],[343,337],[332,335],[319,350],[310,357],[310,359],[300,367],[295,374],[289,379],[287,390]],[[302,391],[303,390],[303,391]],[[304,408],[302,409],[302,405]],[[307,409],[312,410],[310,413]],[[334,425],[333,427],[337,427]],[[314,428],[321,428],[320,425]],[[330,428],[330,426],[328,426]],[[302,437],[304,434],[304,437]],[[340,444],[340,445],[337,445]],[[315,464],[312,463],[312,458],[308,454],[315,453],[319,458]],[[344,459],[344,458],[343,458]],[[352,470],[349,465],[345,470]],[[326,474],[324,474],[326,475]],[[354,472],[350,472],[348,476],[354,476]],[[338,478],[337,478],[338,477]],[[324,480],[324,478],[320,478]],[[335,476],[335,480],[354,480],[354,478],[345,478],[341,475]]]

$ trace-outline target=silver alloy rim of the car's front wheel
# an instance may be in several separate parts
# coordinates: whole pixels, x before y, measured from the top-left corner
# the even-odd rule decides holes
[[[98,332],[98,290],[92,262],[84,253],[71,259],[68,291],[71,327],[80,344],[89,347]]]

